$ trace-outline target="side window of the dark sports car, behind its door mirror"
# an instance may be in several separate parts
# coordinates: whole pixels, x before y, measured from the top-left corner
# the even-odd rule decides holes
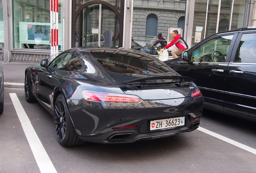
[[[62,70],[64,65],[72,58],[72,56],[73,54],[70,53],[61,54],[51,62],[49,67],[55,70]]]

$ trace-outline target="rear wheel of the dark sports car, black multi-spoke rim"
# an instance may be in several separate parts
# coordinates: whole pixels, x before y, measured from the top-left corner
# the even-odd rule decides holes
[[[76,135],[66,101],[62,94],[58,95],[54,104],[54,126],[56,137],[60,145],[69,147],[84,143]]]

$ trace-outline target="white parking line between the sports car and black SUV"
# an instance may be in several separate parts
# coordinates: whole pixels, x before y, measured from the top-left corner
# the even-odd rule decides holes
[[[225,142],[227,142],[227,143],[230,143],[230,144],[232,144],[232,145],[235,145],[236,147],[239,147],[239,148],[244,149],[244,150],[246,150],[246,151],[249,151],[249,152],[251,152],[251,153],[253,153],[253,154],[256,154],[256,149],[254,149],[254,148],[252,148],[252,147],[248,147],[247,145],[244,145],[244,144],[242,144],[242,143],[239,143],[239,142],[237,142],[237,141],[234,141],[234,140],[232,140],[232,139],[229,139],[229,138],[227,138],[227,137],[224,137],[224,136],[222,136],[222,135],[219,135],[218,133],[214,133],[214,132],[209,131],[209,130],[207,130],[207,129],[204,129],[204,128],[202,128],[202,127],[199,127],[198,130],[199,130],[199,131],[202,131],[202,132],[204,132],[204,133],[206,133],[206,134],[208,134],[208,135],[211,135],[211,136],[213,136],[213,137],[216,137],[216,138],[218,138],[218,139],[221,139],[222,141],[225,141]]]

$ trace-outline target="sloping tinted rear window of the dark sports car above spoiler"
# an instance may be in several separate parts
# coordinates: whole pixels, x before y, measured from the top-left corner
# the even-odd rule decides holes
[[[142,52],[125,52],[122,50],[111,51],[89,51],[97,61],[111,72],[117,73],[166,73],[171,69],[156,58]]]

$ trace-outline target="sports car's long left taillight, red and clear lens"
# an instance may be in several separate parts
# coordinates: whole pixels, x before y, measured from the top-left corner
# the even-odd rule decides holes
[[[83,90],[83,97],[89,101],[107,103],[140,103],[142,99],[135,95],[101,93],[96,91]]]

